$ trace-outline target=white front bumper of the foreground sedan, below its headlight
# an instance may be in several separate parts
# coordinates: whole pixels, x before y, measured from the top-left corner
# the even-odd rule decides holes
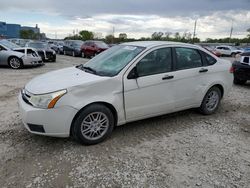
[[[70,106],[53,109],[35,108],[23,100],[21,93],[18,96],[18,104],[22,121],[29,132],[44,136],[69,137],[70,126],[77,109]]]

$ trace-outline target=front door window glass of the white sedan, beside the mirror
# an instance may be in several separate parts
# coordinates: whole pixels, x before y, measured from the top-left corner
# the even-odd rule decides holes
[[[171,48],[161,48],[147,54],[138,64],[138,76],[147,76],[171,71]]]

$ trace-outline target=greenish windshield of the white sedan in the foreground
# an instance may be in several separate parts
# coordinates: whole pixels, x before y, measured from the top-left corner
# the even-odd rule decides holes
[[[94,57],[83,67],[91,69],[100,76],[115,76],[144,49],[144,47],[117,45]]]

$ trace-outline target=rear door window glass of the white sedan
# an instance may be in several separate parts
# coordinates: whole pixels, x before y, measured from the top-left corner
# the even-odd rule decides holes
[[[176,48],[176,69],[190,69],[202,66],[201,55],[195,49]]]

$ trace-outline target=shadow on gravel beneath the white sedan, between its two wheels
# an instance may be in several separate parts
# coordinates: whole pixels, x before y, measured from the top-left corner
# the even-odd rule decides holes
[[[168,137],[172,133],[191,129],[201,118],[205,119],[206,117],[196,112],[195,109],[190,109],[127,123],[115,127],[111,139],[107,140],[107,142],[133,146],[140,142]],[[128,142],[128,139],[132,139],[133,142]]]

